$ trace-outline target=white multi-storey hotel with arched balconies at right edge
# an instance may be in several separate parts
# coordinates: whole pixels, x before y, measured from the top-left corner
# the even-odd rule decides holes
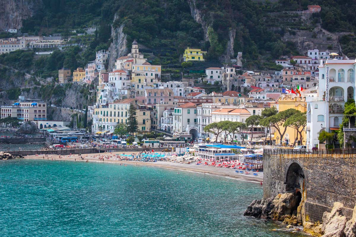
[[[308,149],[319,145],[320,131],[339,128],[345,102],[355,100],[355,70],[356,59],[320,60],[318,92],[306,97]]]

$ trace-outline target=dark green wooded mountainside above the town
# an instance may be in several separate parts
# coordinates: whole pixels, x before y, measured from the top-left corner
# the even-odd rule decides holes
[[[314,14],[307,22],[295,21],[298,15],[275,14],[305,10],[308,5],[317,4],[322,8],[320,14]],[[118,17],[113,22],[115,14]],[[52,34],[72,29],[81,32],[85,27],[97,26],[99,41],[110,43],[108,26],[124,24],[127,41],[136,38],[158,56],[165,56],[157,61],[163,65],[179,63],[178,56],[184,48],[192,46],[207,50],[208,59],[226,53],[236,57],[237,52],[243,52],[245,66],[261,67],[262,56],[268,61],[298,53],[293,44],[282,41],[286,32],[312,31],[318,23],[331,32],[353,32],[355,19],[353,0],[49,0],[23,22],[22,32]],[[235,31],[235,37],[229,38],[231,30]],[[355,52],[356,45],[350,44],[343,46],[348,52]]]

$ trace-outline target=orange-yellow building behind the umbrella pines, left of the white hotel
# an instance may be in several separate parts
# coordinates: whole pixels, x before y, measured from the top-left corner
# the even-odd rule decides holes
[[[293,95],[283,95],[283,97],[279,98],[278,100],[278,112],[287,110],[287,109],[297,109],[300,112],[307,112],[307,103],[305,102],[305,98],[300,99],[300,97],[293,98]],[[284,130],[284,127],[281,126],[279,128],[281,131]],[[306,144],[307,134],[306,131],[302,131],[303,136],[303,145]],[[277,141],[278,137],[278,141]],[[294,128],[287,127],[286,133],[284,134],[283,138],[279,138],[279,133],[276,131],[274,133],[274,138],[276,138],[276,143],[278,144],[279,140],[282,141],[282,144],[285,144],[288,141],[288,144],[293,144],[295,138],[297,137],[297,130]],[[299,136],[298,136],[299,140]],[[298,145],[297,143],[295,143]]]

